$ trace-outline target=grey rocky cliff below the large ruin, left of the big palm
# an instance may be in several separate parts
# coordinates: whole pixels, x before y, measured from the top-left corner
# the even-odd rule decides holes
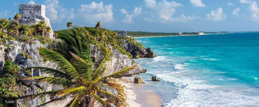
[[[47,76],[41,74],[39,70],[31,70],[30,74],[25,73],[24,68],[27,67],[49,67],[57,69],[55,63],[49,61],[44,62],[40,56],[37,48],[43,45],[39,41],[34,41],[33,44],[19,43],[14,40],[6,41],[9,47],[1,45],[0,51],[0,63],[4,63],[5,60],[12,60],[15,64],[19,65],[19,77],[24,78],[28,76]],[[4,60],[3,60],[4,59]],[[3,67],[3,64],[0,64]],[[45,83],[35,82],[33,80],[24,80],[19,84],[20,91],[24,92],[24,95],[38,94],[41,92],[47,92],[52,90],[52,86],[46,85]],[[34,98],[33,100],[23,101],[18,100],[17,106],[37,106],[43,102],[48,102],[50,98]]]

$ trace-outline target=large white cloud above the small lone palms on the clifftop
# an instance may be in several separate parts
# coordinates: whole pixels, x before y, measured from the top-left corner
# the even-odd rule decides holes
[[[104,6],[103,2],[92,2],[88,5],[80,5],[80,7],[78,15],[85,22],[96,23],[98,21],[110,22],[113,20],[112,4]]]

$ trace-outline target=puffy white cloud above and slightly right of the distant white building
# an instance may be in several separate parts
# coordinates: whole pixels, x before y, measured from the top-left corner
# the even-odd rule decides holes
[[[226,15],[223,13],[222,8],[219,7],[217,10],[212,10],[210,14],[206,15],[206,17],[207,20],[223,21]]]

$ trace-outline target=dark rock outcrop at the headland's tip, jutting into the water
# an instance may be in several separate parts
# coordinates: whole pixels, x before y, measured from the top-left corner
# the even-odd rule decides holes
[[[145,49],[144,47],[139,47],[127,42],[125,44],[120,44],[120,46],[129,52],[132,55],[132,58],[156,57],[151,48]]]

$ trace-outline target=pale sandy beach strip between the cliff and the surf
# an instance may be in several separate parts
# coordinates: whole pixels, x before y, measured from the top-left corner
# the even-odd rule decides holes
[[[125,102],[129,107],[161,107],[161,98],[155,92],[143,91],[141,84],[135,84],[134,80],[126,78],[116,79],[116,83],[123,86],[125,92]]]

